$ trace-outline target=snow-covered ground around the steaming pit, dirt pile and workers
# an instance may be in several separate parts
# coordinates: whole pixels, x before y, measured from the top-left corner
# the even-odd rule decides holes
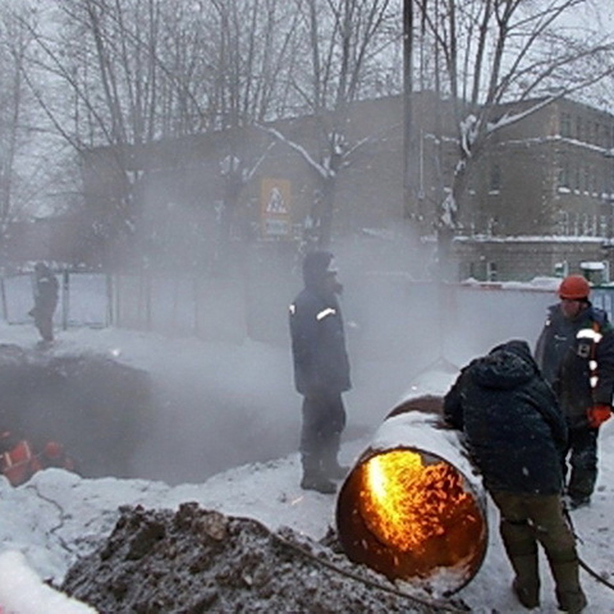
[[[34,348],[37,336],[30,326],[0,325],[0,342]],[[486,350],[488,348],[484,348]],[[287,348],[260,344],[212,346],[196,340],[168,340],[160,336],[115,329],[86,328],[60,332],[52,352],[98,352],[149,370],[157,378],[173,379],[181,371],[203,381],[230,378],[238,372],[254,374],[252,384],[258,394],[288,392],[289,355]],[[261,370],[254,370],[254,364]],[[223,368],[220,368],[223,365]],[[445,394],[455,373],[433,370],[408,381],[408,395]],[[278,368],[275,375],[262,375],[266,368]],[[261,373],[258,376],[258,373]],[[383,377],[382,375],[378,375]],[[278,389],[262,392],[262,378],[284,379]],[[249,386],[250,379],[247,378]],[[241,380],[246,384],[245,379]],[[228,382],[230,386],[231,381]],[[386,387],[386,381],[381,381]],[[280,392],[282,391],[282,392]],[[360,406],[359,392],[348,395],[350,424],[367,424]],[[390,392],[387,392],[390,395]],[[385,395],[384,395],[385,396]],[[289,397],[290,398],[290,397]],[[388,398],[373,409],[371,426],[376,426],[387,410]],[[271,402],[273,398],[271,397]],[[298,397],[292,397],[291,424],[298,424]],[[370,436],[344,443],[341,461],[352,464],[370,443]],[[605,424],[600,435],[600,476],[590,507],[573,511],[578,546],[583,561],[597,573],[614,579],[614,420]],[[12,488],[0,478],[0,612],[7,614],[93,612],[92,608],[56,593],[42,583],[61,581],[79,554],[85,554],[106,537],[123,504],[141,503],[147,508],[177,508],[179,503],[195,501],[228,515],[256,518],[271,529],[290,526],[319,539],[333,524],[335,497],[301,491],[298,454],[267,462],[247,464],[208,478],[203,483],[171,486],[163,481],[85,480],[72,473],[49,469],[28,483]],[[489,547],[486,559],[475,578],[458,594],[473,612],[524,612],[510,590],[511,569],[503,553],[497,530],[497,513],[489,503]],[[587,573],[581,573],[589,599],[587,613],[614,612],[614,594]],[[550,574],[542,556],[542,608],[556,612]]]

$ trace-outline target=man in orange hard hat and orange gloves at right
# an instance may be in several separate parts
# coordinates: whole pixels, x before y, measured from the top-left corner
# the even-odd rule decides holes
[[[591,305],[591,288],[581,275],[559,286],[558,305],[548,316],[535,360],[558,397],[569,427],[570,507],[589,505],[597,480],[599,427],[612,414],[614,334],[607,314]]]

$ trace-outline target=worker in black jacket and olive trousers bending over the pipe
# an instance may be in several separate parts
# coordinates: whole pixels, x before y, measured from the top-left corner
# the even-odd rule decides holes
[[[516,573],[512,588],[521,604],[539,605],[540,542],[559,608],[580,612],[586,597],[561,503],[567,427],[526,341],[508,341],[465,367],[444,398],[444,416],[464,432],[499,508],[500,534]]]

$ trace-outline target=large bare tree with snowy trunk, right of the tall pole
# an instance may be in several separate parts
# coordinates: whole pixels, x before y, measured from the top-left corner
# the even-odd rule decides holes
[[[440,262],[445,262],[467,185],[497,131],[614,71],[613,40],[565,28],[588,0],[416,0],[422,33],[435,50],[435,79],[450,96],[458,160],[438,203]],[[566,22],[565,19],[568,21]],[[502,117],[502,103],[524,103]]]

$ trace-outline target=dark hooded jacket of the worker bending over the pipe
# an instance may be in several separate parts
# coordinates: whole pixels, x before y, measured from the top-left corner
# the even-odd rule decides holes
[[[497,346],[461,371],[444,398],[486,488],[558,494],[567,427],[525,341]]]

